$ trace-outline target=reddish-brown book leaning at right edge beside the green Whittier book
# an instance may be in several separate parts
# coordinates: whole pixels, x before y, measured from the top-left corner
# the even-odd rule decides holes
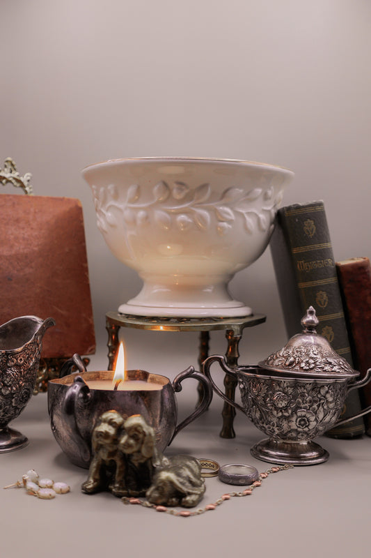
[[[365,376],[371,368],[371,264],[368,257],[336,262],[347,319],[354,368]],[[371,405],[371,384],[361,389],[363,407]],[[366,434],[371,436],[371,416],[365,415]]]

